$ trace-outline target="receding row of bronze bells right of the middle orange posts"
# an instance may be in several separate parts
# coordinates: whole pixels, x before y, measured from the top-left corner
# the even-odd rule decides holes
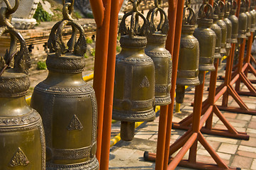
[[[216,1],[213,7],[206,1],[199,8],[198,27],[195,28],[195,14],[189,4],[184,8],[182,38],[177,71],[176,101],[183,103],[185,86],[201,83],[200,71],[213,71],[213,61],[223,55],[230,55],[230,43],[247,38],[256,29],[255,1],[241,1],[237,18],[236,1],[226,4]],[[246,11],[246,12],[245,12]],[[189,13],[189,14],[186,14]]]

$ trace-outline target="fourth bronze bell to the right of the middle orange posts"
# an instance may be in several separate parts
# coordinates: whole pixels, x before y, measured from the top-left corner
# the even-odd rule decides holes
[[[226,6],[223,1],[218,1],[218,26],[221,27],[221,55],[226,55],[227,26],[223,21]]]

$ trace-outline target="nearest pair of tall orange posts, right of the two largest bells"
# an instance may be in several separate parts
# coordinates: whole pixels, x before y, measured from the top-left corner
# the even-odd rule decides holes
[[[118,12],[123,0],[90,0],[94,13],[96,50],[94,62],[94,90],[98,104],[97,152],[100,169],[108,169],[113,84],[116,63]],[[108,89],[106,91],[106,89]]]

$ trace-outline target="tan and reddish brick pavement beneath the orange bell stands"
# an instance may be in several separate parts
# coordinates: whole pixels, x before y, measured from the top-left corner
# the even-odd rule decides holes
[[[224,64],[223,64],[224,65]],[[224,67],[224,66],[222,66]],[[223,75],[224,69],[222,68],[220,74]],[[251,74],[249,77],[255,79]],[[204,99],[208,96],[208,83],[209,74],[206,76],[206,85],[204,92]],[[218,80],[218,84],[221,84],[221,80]],[[244,84],[241,84],[243,89]],[[256,85],[255,85],[256,87]],[[256,97],[241,96],[243,101],[250,109],[256,109]],[[181,105],[182,113],[174,113],[173,121],[179,122],[186,115],[189,115],[193,107],[191,101],[194,101],[194,87],[189,87],[184,98],[184,103]],[[217,104],[221,103],[221,98],[217,101]],[[233,98],[229,97],[230,106],[238,106]],[[250,135],[250,140],[235,140],[227,137],[219,137],[215,135],[204,135],[207,142],[216,150],[217,154],[223,159],[228,166],[240,167],[241,169],[256,169],[256,115],[245,115],[241,113],[223,112],[223,115],[230,122],[238,132],[247,132]],[[159,115],[159,114],[157,114]],[[157,130],[158,130],[159,116],[149,123],[143,123],[135,132],[134,140],[131,142],[120,141],[113,147],[110,152],[109,169],[131,169],[131,170],[146,170],[155,169],[155,163],[145,162],[143,159],[144,151],[156,152],[157,148]],[[116,135],[119,132],[120,123],[113,124],[112,135]],[[213,117],[213,128],[224,128],[223,123],[216,115]],[[172,144],[181,135],[184,134],[184,130],[172,130],[171,142]],[[188,153],[185,155],[186,159]],[[210,154],[200,144],[197,149],[197,161],[215,164]],[[177,169],[187,169],[177,167]]]

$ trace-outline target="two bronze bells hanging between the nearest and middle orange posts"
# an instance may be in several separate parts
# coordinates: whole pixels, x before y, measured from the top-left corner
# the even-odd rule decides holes
[[[133,11],[123,16],[121,52],[116,56],[113,119],[121,120],[121,139],[133,140],[135,122],[155,119],[154,106],[171,103],[172,56],[165,49],[169,24],[165,11],[155,0],[147,18],[138,12],[140,1],[133,1]],[[161,17],[156,25],[155,16]],[[130,16],[130,28],[126,18]],[[138,27],[138,18],[143,26]]]

